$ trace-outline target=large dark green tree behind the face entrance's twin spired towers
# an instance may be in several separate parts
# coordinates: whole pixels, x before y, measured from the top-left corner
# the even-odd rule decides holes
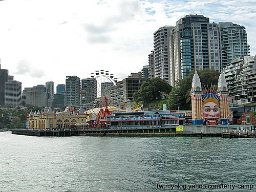
[[[181,110],[191,110],[190,91],[194,74],[195,70],[189,73],[186,78],[176,82],[176,87],[170,93],[170,109],[178,109],[178,107],[180,107]],[[220,72],[211,69],[204,69],[198,71],[198,74],[203,90],[205,88],[211,90],[217,89]]]

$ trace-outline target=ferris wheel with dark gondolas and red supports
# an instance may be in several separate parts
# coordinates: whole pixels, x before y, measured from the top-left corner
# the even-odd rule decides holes
[[[118,89],[117,78],[109,71],[91,73],[90,78],[82,79],[83,108],[89,110],[94,119],[106,118],[105,115],[120,109],[122,93]]]

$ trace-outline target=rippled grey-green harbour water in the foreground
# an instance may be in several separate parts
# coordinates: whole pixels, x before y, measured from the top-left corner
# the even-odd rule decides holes
[[[256,139],[0,133],[0,191],[255,191]],[[159,189],[179,184],[180,188]],[[236,185],[189,189],[188,185]],[[252,185],[241,189],[238,185]]]

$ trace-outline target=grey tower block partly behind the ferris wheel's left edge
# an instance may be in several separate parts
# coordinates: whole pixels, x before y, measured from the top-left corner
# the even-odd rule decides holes
[[[94,78],[85,78],[81,80],[82,84],[82,103],[89,104],[97,98],[97,80]]]

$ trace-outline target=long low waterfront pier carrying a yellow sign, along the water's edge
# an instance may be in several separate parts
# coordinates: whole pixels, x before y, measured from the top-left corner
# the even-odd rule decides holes
[[[179,125],[170,127],[115,127],[115,128],[89,128],[89,129],[14,129],[12,134],[29,136],[193,136],[193,137],[228,137],[228,138],[251,138],[255,137],[252,127],[241,127],[239,125]],[[239,133],[240,132],[240,133]]]

